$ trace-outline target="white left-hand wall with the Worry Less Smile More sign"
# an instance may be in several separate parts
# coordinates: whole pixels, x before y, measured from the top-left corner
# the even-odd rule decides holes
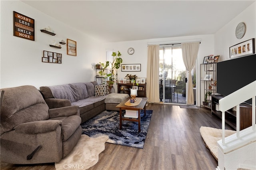
[[[44,85],[94,81],[100,42],[21,1],[0,3],[1,88],[34,85],[39,89]],[[13,11],[35,20],[35,41],[13,36]],[[46,26],[50,26],[56,36],[40,32]],[[66,45],[61,49],[49,46],[53,40],[66,42],[67,38],[77,42],[77,56],[67,55]],[[62,64],[42,63],[43,50],[62,53]]]

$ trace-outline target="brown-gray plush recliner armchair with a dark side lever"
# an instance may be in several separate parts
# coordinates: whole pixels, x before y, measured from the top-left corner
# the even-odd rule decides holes
[[[1,162],[59,162],[74,148],[82,134],[78,106],[49,109],[30,85],[0,90]]]

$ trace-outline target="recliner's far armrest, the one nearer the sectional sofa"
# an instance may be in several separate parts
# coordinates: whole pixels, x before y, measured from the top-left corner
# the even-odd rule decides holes
[[[68,107],[49,109],[48,113],[50,115],[50,118],[72,116],[72,115],[80,116],[78,106],[68,106]]]

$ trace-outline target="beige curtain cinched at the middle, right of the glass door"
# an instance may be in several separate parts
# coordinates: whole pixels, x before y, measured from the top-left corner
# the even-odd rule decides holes
[[[196,63],[199,43],[200,42],[181,43],[183,62],[186,69],[188,70],[188,105],[194,105],[194,92],[191,71]]]

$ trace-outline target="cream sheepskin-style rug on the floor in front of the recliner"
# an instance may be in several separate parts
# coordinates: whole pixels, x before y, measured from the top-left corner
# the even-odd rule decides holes
[[[60,162],[55,162],[56,170],[86,170],[94,166],[99,160],[99,154],[105,149],[107,140],[107,135],[90,138],[82,134],[73,150]]]

